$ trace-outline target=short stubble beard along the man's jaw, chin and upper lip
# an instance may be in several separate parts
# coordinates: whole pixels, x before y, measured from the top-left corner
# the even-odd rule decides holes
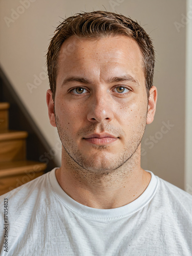
[[[146,118],[147,112],[140,120],[139,126],[136,127],[137,130],[133,134],[131,141],[129,141],[127,145],[122,148],[122,151],[118,153],[117,156],[106,156],[106,154],[109,155],[109,151],[107,153],[105,152],[107,146],[100,145],[97,147],[98,156],[96,152],[96,155],[94,155],[94,157],[86,158],[86,156],[84,156],[79,151],[77,145],[74,143],[74,140],[68,136],[66,130],[61,127],[59,118],[55,114],[57,131],[63,146],[63,150],[65,151],[64,155],[66,164],[73,169],[97,175],[112,173],[115,172],[115,170],[117,169],[125,169],[127,168],[127,165],[129,165],[129,167],[133,166],[134,168],[134,166],[137,165],[137,162],[140,161],[140,152],[138,152],[138,147],[144,135]],[[95,127],[96,124],[91,123],[89,127],[85,128],[85,130],[87,131],[86,134],[88,134],[88,132],[89,134],[91,134],[91,132],[94,133],[94,131],[96,130]],[[110,133],[110,131],[115,130],[114,128],[112,128],[111,125],[109,125],[109,123],[105,123],[105,125],[102,125],[102,127],[100,128],[101,132],[103,130]]]

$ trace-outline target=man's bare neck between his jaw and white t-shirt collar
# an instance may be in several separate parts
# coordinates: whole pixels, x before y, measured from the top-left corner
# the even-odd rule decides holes
[[[66,194],[80,204],[98,209],[121,207],[137,199],[151,180],[151,174],[140,167],[139,154],[133,158],[116,170],[96,174],[75,168],[76,163],[69,164],[65,156],[56,178]]]

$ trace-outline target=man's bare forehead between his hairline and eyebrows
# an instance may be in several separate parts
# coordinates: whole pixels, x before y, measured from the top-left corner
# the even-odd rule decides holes
[[[144,79],[143,59],[137,42],[125,35],[99,39],[69,37],[58,56],[58,75],[106,76],[130,73]]]

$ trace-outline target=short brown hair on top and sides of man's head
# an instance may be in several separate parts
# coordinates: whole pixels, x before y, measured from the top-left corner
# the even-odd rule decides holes
[[[56,28],[47,52],[48,76],[53,100],[56,91],[57,60],[61,45],[70,36],[102,38],[110,35],[126,35],[135,39],[143,55],[143,71],[147,97],[153,86],[155,52],[150,36],[131,18],[106,11],[76,13]]]

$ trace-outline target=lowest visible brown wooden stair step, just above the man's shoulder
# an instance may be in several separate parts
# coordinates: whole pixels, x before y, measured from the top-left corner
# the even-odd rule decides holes
[[[41,175],[47,164],[36,161],[13,161],[1,163],[0,195],[17,188]]]

